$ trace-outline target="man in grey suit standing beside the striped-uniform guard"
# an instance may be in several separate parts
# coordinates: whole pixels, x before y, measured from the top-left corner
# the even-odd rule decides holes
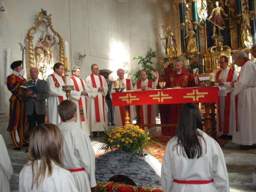
[[[38,79],[38,69],[31,68],[30,76],[32,80],[26,82],[25,86],[35,85],[38,93],[33,91],[23,92],[22,100],[25,102],[25,114],[28,117],[29,132],[36,124],[45,123],[46,116],[46,99],[49,97],[49,87],[47,81]]]

